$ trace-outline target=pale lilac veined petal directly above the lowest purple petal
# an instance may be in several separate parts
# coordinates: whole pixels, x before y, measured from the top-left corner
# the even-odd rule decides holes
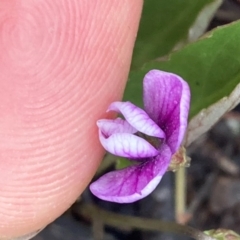
[[[158,150],[149,142],[133,134],[115,133],[108,137],[99,129],[99,139],[108,152],[120,157],[137,160],[158,154]]]

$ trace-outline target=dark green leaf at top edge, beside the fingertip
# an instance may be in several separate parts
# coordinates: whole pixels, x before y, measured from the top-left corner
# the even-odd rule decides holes
[[[214,0],[147,0],[133,52],[132,69],[168,54],[187,38],[201,10]]]

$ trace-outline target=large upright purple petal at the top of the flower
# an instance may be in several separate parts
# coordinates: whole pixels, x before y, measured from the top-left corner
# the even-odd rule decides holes
[[[143,89],[145,111],[163,129],[175,153],[187,128],[189,86],[173,73],[151,70],[144,77]]]

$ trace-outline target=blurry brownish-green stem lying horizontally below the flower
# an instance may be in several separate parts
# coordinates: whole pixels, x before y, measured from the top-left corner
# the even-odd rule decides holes
[[[189,226],[158,219],[127,216],[103,210],[92,204],[83,204],[77,210],[79,214],[92,222],[101,219],[103,225],[114,226],[118,229],[140,229],[145,231],[161,231],[182,234],[196,240],[214,240],[214,238]]]

